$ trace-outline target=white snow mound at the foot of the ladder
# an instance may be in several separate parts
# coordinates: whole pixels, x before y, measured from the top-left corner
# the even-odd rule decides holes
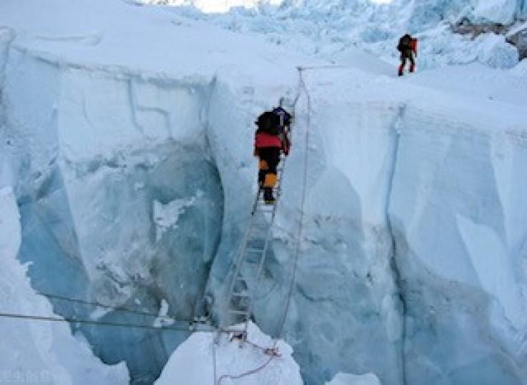
[[[250,343],[240,342],[238,339],[231,341],[229,333],[192,334],[171,355],[156,385],[202,385],[219,381],[221,384],[244,385],[303,384],[298,364],[291,356],[293,349],[286,342],[278,340],[276,348],[280,356],[271,357],[261,348],[273,348],[273,339],[262,333],[252,322],[249,323],[247,332]],[[255,370],[260,367],[262,369]],[[252,371],[255,373],[249,373]],[[241,374],[247,375],[241,379],[229,377]]]

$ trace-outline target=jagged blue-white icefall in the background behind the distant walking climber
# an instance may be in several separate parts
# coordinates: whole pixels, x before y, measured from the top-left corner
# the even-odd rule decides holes
[[[179,0],[147,2],[181,4]],[[281,1],[280,6],[273,6],[273,1],[259,1],[255,7],[254,1],[246,0],[227,13],[204,14],[196,7],[207,11],[206,1],[189,0],[185,1],[189,6],[169,9],[231,31],[261,34],[277,46],[345,65],[346,56],[341,53],[361,48],[398,66],[395,48],[406,33],[419,40],[419,69],[474,62],[511,68],[518,64],[518,51],[519,58],[525,58],[525,38],[521,43],[511,39],[527,27],[523,0],[374,2],[378,1],[306,0]],[[466,33],[454,33],[461,30],[460,24]]]

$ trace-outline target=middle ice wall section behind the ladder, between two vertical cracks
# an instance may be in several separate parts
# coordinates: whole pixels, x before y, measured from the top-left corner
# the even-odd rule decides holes
[[[320,73],[312,73],[308,81],[317,75]],[[229,77],[221,74],[219,78]],[[331,82],[326,75],[323,78]],[[232,122],[246,120],[243,116],[253,109],[249,103],[253,97],[244,96],[244,88],[236,88],[232,83],[216,84],[209,112],[211,133],[221,132],[224,121],[216,116],[221,115],[226,104],[234,103],[236,108],[232,111],[240,111],[231,118]],[[225,98],[229,95],[227,89],[236,98]],[[317,88],[321,90],[323,88]],[[283,176],[283,196],[278,207],[272,250],[260,282],[251,282],[257,261],[253,261],[252,266],[249,261],[249,268],[244,271],[249,290],[256,299],[255,320],[272,336],[281,332],[281,318],[286,311],[292,279],[303,188],[306,101],[306,94],[301,93],[296,104],[293,151]],[[331,92],[331,98],[325,92],[317,94],[312,103],[316,109],[312,111],[309,143],[311,161],[308,164],[308,199],[304,207],[306,217],[296,284],[283,337],[293,346],[295,359],[308,384],[329,381],[338,369],[355,373],[372,371],[381,374],[386,384],[399,384],[402,378],[401,309],[389,265],[391,237],[386,222],[389,180],[385,176],[392,167],[394,136],[391,126],[398,118],[397,104],[355,100],[348,103],[338,92]],[[243,198],[239,192],[241,186],[254,192],[256,178],[255,163],[250,158],[252,133],[236,123],[231,129],[239,132],[245,142],[241,150],[236,146],[224,152],[219,147],[221,143],[216,142],[221,137],[213,136],[211,140],[228,208],[224,219],[226,232],[209,282],[209,292],[220,320],[224,294],[231,278],[229,266],[239,250],[253,196]],[[350,154],[346,144],[356,142],[360,143],[361,150]],[[386,156],[373,157],[372,151],[386,153]],[[231,167],[222,168],[220,165],[224,162],[218,160],[232,155],[231,166],[239,164],[238,157],[247,159],[236,173],[232,173]],[[363,175],[362,166],[368,161],[371,161],[371,175]],[[251,164],[252,170],[248,169]],[[257,218],[256,226],[260,226],[262,220]],[[385,354],[382,357],[371,354],[371,344],[381,347]],[[356,356],[353,353],[356,351],[368,353]]]

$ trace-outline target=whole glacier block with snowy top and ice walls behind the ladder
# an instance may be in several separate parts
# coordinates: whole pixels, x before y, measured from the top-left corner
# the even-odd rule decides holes
[[[303,380],[526,384],[525,73],[398,79],[356,48],[331,67],[165,9],[35,7],[0,4],[0,187],[32,287],[113,307],[55,298],[54,312],[151,326],[72,324],[104,362],[153,382],[189,335],[156,328],[161,307],[232,321],[253,122],[283,97],[295,123],[272,250],[258,285],[246,274],[256,324],[293,347]]]

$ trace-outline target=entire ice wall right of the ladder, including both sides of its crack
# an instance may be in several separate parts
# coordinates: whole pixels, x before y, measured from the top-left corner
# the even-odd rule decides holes
[[[306,75],[308,198],[285,336],[309,384],[338,370],[373,371],[383,384],[525,384],[525,200],[513,180],[526,84],[501,76],[478,66],[403,83]],[[302,94],[273,250],[249,287],[271,334],[291,279],[307,112]]]

